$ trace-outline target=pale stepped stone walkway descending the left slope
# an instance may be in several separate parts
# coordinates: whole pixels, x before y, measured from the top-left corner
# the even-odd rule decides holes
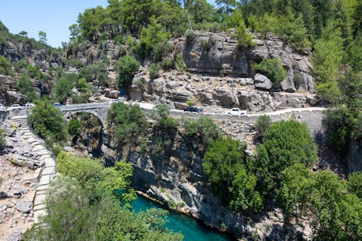
[[[33,200],[34,223],[38,223],[40,216],[45,215],[45,194],[51,180],[55,176],[56,163],[52,158],[52,153],[43,145],[43,141],[30,131],[26,116],[12,117],[11,120],[21,124],[21,127],[19,127],[21,138],[28,143],[33,152],[39,155],[40,159],[45,163],[39,173],[39,182]]]

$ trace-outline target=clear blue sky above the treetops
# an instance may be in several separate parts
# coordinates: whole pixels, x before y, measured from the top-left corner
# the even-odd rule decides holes
[[[61,47],[69,41],[69,26],[76,23],[79,13],[107,5],[107,0],[0,0],[0,20],[10,33],[25,31],[39,40],[38,33],[43,31],[48,45]]]

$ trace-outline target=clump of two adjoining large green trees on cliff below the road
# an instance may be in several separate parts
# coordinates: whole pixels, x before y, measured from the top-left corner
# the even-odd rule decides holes
[[[295,163],[311,167],[317,161],[307,126],[293,120],[267,127],[264,143],[254,155],[245,158],[245,148],[240,141],[218,139],[202,163],[214,193],[234,209],[260,211],[266,201],[275,199],[287,167]]]

